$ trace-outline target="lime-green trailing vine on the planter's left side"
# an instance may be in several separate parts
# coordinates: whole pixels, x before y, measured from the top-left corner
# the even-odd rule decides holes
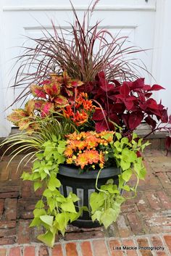
[[[58,232],[64,234],[67,224],[80,217],[85,207],[75,210],[74,202],[79,198],[70,193],[65,198],[60,192],[61,183],[57,178],[59,164],[64,163],[63,155],[66,142],[59,136],[51,136],[41,146],[41,152],[36,154],[32,173],[22,173],[22,179],[33,181],[34,190],[44,187],[43,197],[36,204],[33,211],[33,221],[30,227],[43,226],[45,233],[38,236],[40,241],[53,247]]]

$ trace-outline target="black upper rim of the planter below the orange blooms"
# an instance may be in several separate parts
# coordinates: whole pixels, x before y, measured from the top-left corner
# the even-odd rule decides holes
[[[90,170],[86,173],[79,174],[78,168],[76,166],[74,168],[68,165],[59,165],[59,174],[70,177],[70,178],[96,179],[98,173],[99,173],[99,170]],[[116,166],[111,166],[111,167],[102,169],[99,178],[109,178],[112,176],[117,176],[118,174],[120,174],[120,168],[117,168]]]

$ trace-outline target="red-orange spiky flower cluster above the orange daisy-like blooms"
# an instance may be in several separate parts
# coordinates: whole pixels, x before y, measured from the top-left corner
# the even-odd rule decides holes
[[[74,103],[64,108],[63,115],[80,126],[88,122],[88,117],[93,110],[94,106],[92,101],[88,99],[88,95],[81,93],[80,96],[75,99]]]

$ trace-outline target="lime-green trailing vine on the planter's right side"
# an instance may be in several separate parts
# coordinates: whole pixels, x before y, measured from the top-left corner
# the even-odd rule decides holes
[[[143,166],[143,157],[138,157],[137,152],[149,145],[149,142],[142,144],[142,139],[137,139],[138,136],[133,133],[131,141],[128,138],[121,136],[120,133],[115,133],[116,141],[111,142],[113,158],[116,160],[117,167],[120,168],[119,185],[115,185],[112,179],[109,179],[100,189],[96,186],[99,193],[91,194],[91,218],[98,220],[104,224],[105,228],[109,227],[112,222],[117,220],[120,214],[120,206],[127,199],[121,196],[121,191],[130,191],[136,194],[139,179],[144,179],[146,176],[146,168]],[[99,170],[100,174],[101,170]],[[97,176],[97,181],[99,178]],[[130,186],[129,181],[132,176],[137,178],[135,186]]]

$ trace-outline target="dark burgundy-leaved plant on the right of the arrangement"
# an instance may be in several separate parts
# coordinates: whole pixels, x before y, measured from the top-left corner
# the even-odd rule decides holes
[[[93,113],[96,131],[114,129],[116,123],[124,128],[125,134],[132,133],[142,122],[150,125],[151,133],[171,130],[168,126],[171,117],[168,117],[167,109],[162,102],[157,103],[151,98],[153,91],[162,89],[164,88],[158,84],[146,85],[144,78],[123,83],[118,80],[107,80],[104,72],[98,73],[93,82],[80,87],[80,90],[88,93],[90,99],[99,102]],[[161,126],[161,123],[165,125]],[[168,136],[167,149],[170,144],[171,139]]]

